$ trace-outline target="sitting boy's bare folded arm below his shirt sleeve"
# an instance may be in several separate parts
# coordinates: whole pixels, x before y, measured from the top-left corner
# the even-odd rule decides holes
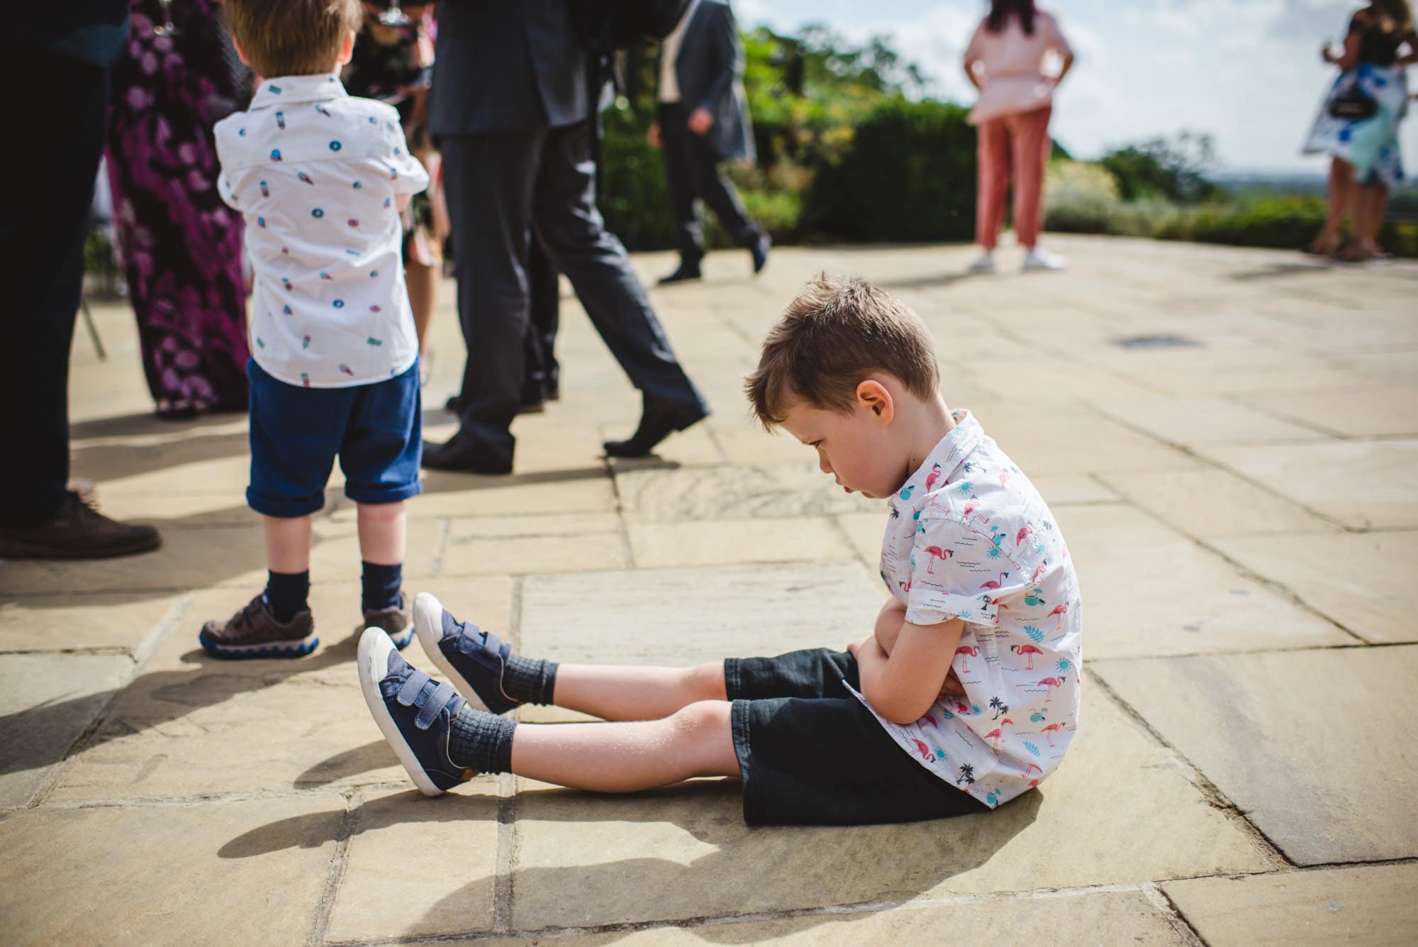
[[[875,637],[864,639],[856,649],[862,696],[892,723],[915,723],[940,695],[963,629],[959,618],[937,625],[908,621],[891,655]]]

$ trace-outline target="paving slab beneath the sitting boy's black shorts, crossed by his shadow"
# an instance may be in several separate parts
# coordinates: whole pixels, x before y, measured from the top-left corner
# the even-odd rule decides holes
[[[1086,726],[1069,760],[1038,792],[990,814],[934,822],[749,828],[736,781],[625,798],[519,780],[512,927],[899,903],[1272,866],[1112,702],[1098,690],[1085,690],[1085,702]]]

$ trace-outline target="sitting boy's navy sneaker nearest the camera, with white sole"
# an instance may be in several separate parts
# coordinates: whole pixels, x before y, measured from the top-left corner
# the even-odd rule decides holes
[[[472,777],[448,756],[452,719],[467,703],[451,683],[415,671],[379,628],[359,639],[359,682],[389,746],[424,795],[441,795]]]

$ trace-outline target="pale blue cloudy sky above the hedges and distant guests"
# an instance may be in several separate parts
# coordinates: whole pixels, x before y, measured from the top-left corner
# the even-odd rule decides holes
[[[1059,92],[1054,135],[1079,157],[1181,129],[1210,132],[1227,170],[1324,173],[1300,143],[1356,4],[1336,0],[1054,0],[1078,64]],[[936,82],[971,101],[960,54],[987,7],[980,0],[733,0],[740,23],[794,30],[827,23],[852,38],[889,34]],[[1418,88],[1418,77],[1411,82]],[[1418,118],[1404,123],[1418,173]]]

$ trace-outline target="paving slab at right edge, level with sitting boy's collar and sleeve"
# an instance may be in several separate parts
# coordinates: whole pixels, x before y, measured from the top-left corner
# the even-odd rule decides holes
[[[1364,641],[1418,641],[1418,532],[1234,537],[1215,547]]]

